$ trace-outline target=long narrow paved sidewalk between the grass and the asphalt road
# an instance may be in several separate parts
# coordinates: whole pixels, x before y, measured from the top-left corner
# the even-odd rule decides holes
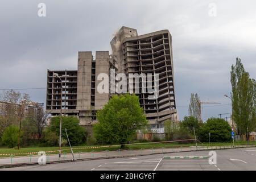
[[[235,146],[235,148],[241,147],[251,147],[255,145],[243,145],[243,146]],[[220,150],[220,149],[228,149],[233,148],[232,146],[198,146],[197,150]],[[75,153],[76,160],[93,160],[93,159],[102,159],[102,158],[121,158],[126,156],[139,156],[139,155],[152,155],[152,154],[166,154],[172,152],[187,152],[187,151],[196,151],[196,146],[191,147],[179,147],[179,148],[152,148],[147,150],[118,150],[118,151],[104,151],[104,152],[84,152],[84,153]],[[22,157],[9,157],[9,158],[0,158],[0,167],[3,167],[7,164],[38,164],[38,159],[40,156],[30,155],[30,156],[22,156]],[[46,155],[46,163],[52,162],[65,162],[73,160],[72,154],[61,154],[61,158],[59,159],[59,155]]]

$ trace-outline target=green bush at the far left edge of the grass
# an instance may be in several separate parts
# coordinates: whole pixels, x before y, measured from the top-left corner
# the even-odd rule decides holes
[[[20,142],[22,141],[22,131],[20,132]],[[2,143],[9,148],[18,145],[19,142],[19,127],[11,125],[6,128],[2,135]]]

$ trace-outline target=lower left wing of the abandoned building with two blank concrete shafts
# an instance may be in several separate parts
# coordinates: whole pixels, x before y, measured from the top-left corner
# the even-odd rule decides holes
[[[110,69],[115,69],[115,61],[110,59],[109,51],[96,51],[93,59],[91,51],[78,53],[77,71],[47,71],[46,111],[60,115],[61,82],[54,77],[58,73],[63,84],[62,109],[64,115],[77,115],[80,125],[89,126],[96,122],[97,110],[109,101],[110,84],[107,93],[98,93],[97,77],[105,73],[110,77]]]

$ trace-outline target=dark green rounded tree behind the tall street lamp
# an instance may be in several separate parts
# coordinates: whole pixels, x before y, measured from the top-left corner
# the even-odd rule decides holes
[[[86,129],[79,125],[79,119],[73,116],[62,117],[62,137],[67,140],[65,129],[67,129],[70,143],[75,146],[86,142]],[[60,117],[52,117],[49,129],[57,136],[60,133]],[[47,134],[47,133],[46,133]],[[46,136],[47,137],[47,136]]]

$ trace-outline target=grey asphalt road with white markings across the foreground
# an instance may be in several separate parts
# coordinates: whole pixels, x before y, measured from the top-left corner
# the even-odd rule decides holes
[[[117,159],[98,159],[61,164],[47,164],[46,166],[26,166],[1,170],[256,170],[256,147],[216,150],[216,153],[216,165],[209,164],[208,159],[192,158],[192,156],[208,156],[209,151],[191,151]],[[190,158],[172,159],[172,157],[170,157],[170,159],[166,159],[167,156],[190,156]]]

